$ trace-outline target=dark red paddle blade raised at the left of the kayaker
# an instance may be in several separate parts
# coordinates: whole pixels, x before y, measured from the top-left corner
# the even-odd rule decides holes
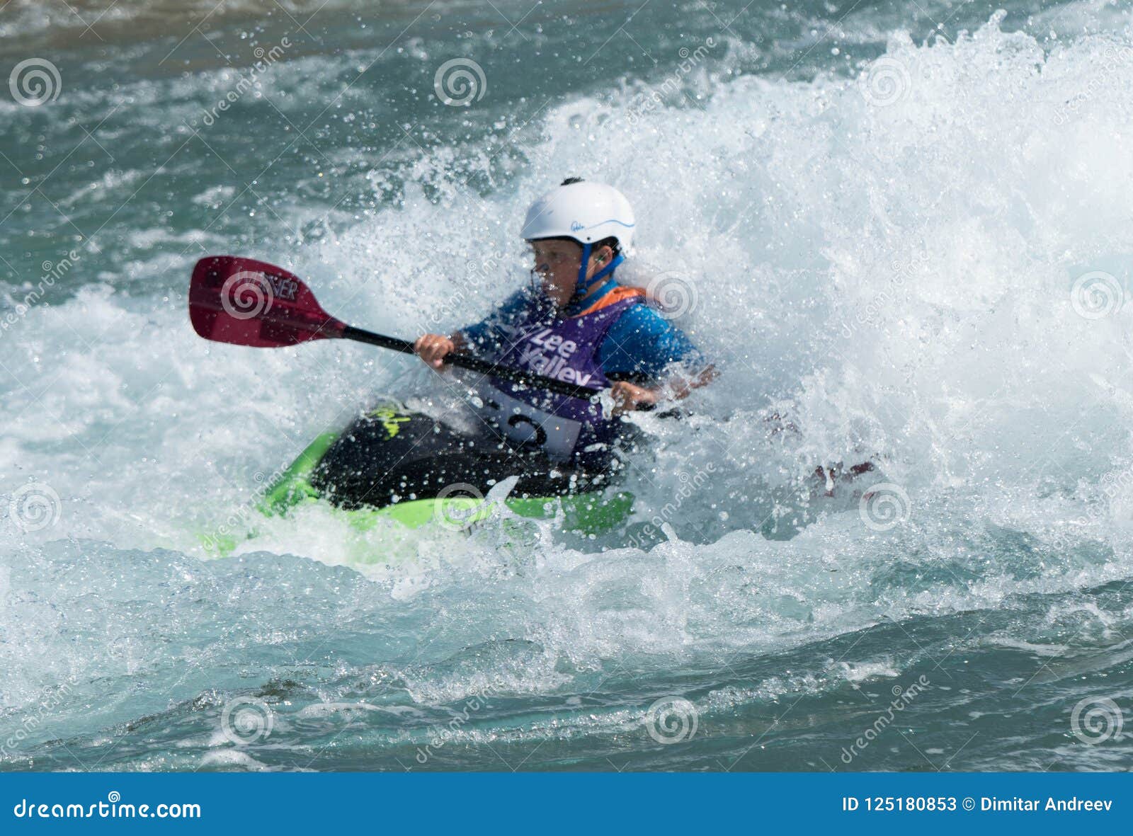
[[[297,275],[267,262],[206,256],[193,268],[189,319],[206,340],[280,348],[342,335]]]

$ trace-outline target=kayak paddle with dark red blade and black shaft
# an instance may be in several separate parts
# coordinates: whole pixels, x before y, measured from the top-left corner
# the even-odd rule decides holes
[[[363,331],[335,319],[320,306],[306,284],[282,267],[238,256],[206,256],[193,268],[189,319],[206,340],[254,348],[282,348],[312,340],[355,340],[414,353],[414,344],[395,336]],[[598,390],[451,353],[444,358],[469,372],[526,383],[555,394],[589,399]]]

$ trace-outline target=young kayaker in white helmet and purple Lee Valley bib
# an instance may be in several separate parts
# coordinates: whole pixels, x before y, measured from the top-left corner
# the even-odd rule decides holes
[[[488,318],[449,336],[424,334],[414,348],[434,368],[451,351],[536,372],[595,390],[610,389],[614,408],[505,381],[477,384],[477,412],[517,445],[552,459],[600,452],[617,416],[680,400],[714,370],[678,327],[645,302],[641,288],[621,285],[614,270],[629,255],[633,211],[615,188],[569,178],[527,211],[522,236],[535,267],[531,287]]]

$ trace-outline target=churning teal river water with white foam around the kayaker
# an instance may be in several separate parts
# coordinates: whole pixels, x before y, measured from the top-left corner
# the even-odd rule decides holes
[[[1130,23],[5,5],[0,769],[1127,769]],[[722,373],[638,419],[633,519],[258,519],[325,427],[459,404],[360,346],[205,343],[193,263],[455,327],[526,280],[522,211],[568,174],[630,197],[625,281]]]

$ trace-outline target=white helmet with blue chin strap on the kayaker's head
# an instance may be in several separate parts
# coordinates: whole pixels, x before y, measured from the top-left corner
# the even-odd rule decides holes
[[[573,238],[581,245],[616,238],[617,248],[630,254],[633,210],[613,186],[568,178],[527,210],[523,238]]]

